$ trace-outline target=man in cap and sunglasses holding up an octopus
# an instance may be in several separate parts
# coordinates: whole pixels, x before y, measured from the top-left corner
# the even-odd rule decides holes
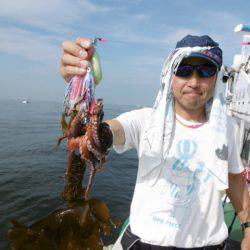
[[[92,46],[77,39],[63,49],[61,74],[69,82],[86,73]],[[136,148],[139,158],[130,226],[115,249],[220,248],[228,236],[221,190],[244,225],[242,249],[250,249],[250,199],[222,74],[219,45],[188,35],[164,63],[154,107],[106,121],[114,149]]]

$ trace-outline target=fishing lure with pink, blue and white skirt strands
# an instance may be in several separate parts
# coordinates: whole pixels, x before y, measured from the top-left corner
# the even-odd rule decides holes
[[[97,42],[106,42],[104,38],[96,37],[92,45]],[[82,118],[88,117],[95,108],[95,86],[102,80],[100,57],[96,49],[90,60],[91,66],[85,75],[74,76],[67,87],[63,103],[63,116],[71,116],[74,111]]]

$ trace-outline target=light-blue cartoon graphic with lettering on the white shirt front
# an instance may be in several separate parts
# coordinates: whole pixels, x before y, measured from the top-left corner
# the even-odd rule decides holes
[[[166,202],[172,206],[165,218],[154,215],[154,223],[171,228],[181,228],[189,220],[190,209],[198,196],[200,183],[211,178],[205,163],[197,160],[198,145],[193,140],[184,139],[176,145],[176,159],[167,166],[166,183],[161,195],[167,197]]]

